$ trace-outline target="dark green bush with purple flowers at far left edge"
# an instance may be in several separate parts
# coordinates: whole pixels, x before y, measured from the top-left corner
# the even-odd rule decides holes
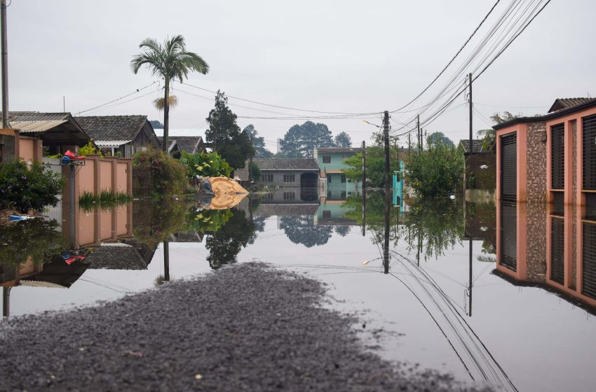
[[[23,160],[0,165],[0,209],[15,209],[21,214],[55,206],[64,179],[41,162],[30,167]]]

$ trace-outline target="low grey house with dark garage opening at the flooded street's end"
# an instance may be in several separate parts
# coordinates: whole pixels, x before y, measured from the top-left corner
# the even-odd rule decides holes
[[[264,186],[313,188],[318,184],[319,167],[314,159],[254,158],[252,162],[261,170],[259,183]],[[243,169],[236,170],[236,175],[248,180],[248,161]]]

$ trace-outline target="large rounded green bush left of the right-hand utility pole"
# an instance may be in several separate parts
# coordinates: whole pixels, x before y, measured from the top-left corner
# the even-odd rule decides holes
[[[416,195],[445,197],[463,181],[463,154],[445,144],[431,144],[405,162],[405,179]]]

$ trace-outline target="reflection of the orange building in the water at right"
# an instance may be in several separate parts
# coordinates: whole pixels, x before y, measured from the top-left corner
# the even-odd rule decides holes
[[[497,206],[494,274],[596,314],[596,209],[555,202]]]

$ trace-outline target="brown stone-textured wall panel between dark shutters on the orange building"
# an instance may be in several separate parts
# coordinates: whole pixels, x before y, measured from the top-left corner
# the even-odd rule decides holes
[[[528,125],[527,143],[527,202],[546,202],[546,143],[542,138],[546,123]]]

